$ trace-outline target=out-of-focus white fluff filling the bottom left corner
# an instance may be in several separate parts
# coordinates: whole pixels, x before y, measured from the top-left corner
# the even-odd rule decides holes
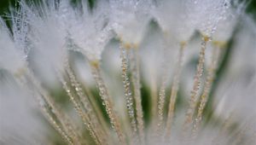
[[[32,98],[13,76],[0,71],[1,144],[38,144],[45,141],[48,129],[38,118],[38,106]]]

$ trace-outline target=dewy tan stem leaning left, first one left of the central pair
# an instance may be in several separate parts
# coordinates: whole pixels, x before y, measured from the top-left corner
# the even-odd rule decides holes
[[[116,131],[117,136],[119,137],[119,142],[121,144],[126,144],[123,132],[121,131],[118,116],[113,111],[113,102],[111,102],[107,86],[105,85],[102,78],[101,70],[99,68],[99,61],[91,61],[90,68],[91,73],[96,80],[97,87],[100,90],[100,96],[102,97],[103,105],[106,107],[106,111],[110,119],[110,124],[112,125],[113,130]]]

